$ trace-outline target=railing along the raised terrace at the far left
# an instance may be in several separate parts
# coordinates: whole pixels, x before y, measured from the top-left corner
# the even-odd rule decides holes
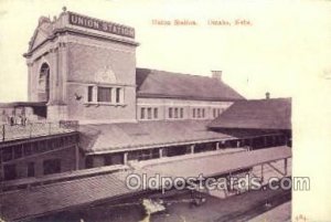
[[[29,123],[26,125],[0,125],[0,141],[64,134],[78,130],[77,121]]]

